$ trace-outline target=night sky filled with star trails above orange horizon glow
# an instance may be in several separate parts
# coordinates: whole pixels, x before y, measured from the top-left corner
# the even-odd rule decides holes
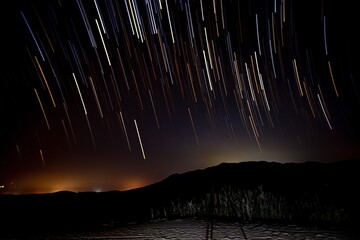
[[[221,162],[360,158],[356,9],[2,3],[0,193],[126,190]]]

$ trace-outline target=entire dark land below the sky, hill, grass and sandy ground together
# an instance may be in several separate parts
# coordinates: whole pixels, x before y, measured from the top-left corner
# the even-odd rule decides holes
[[[129,191],[0,194],[0,238],[351,239],[359,166],[223,163]]]

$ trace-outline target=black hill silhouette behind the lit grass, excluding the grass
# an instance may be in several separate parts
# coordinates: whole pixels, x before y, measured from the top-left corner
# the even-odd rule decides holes
[[[317,208],[340,209],[347,213],[347,221],[355,221],[359,170],[360,160],[221,163],[127,191],[4,194],[0,195],[0,225],[8,231],[29,232],[148,221],[154,218],[154,211],[170,209],[174,202],[193,204],[226,187],[248,192],[261,188],[274,198],[293,203],[315,197]]]

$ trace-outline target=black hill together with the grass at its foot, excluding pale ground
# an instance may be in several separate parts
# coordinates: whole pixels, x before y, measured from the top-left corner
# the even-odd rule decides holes
[[[206,217],[212,206],[212,214],[219,217],[233,217],[232,212],[237,212],[244,220],[296,220],[299,216],[304,222],[352,225],[359,213],[359,170],[360,160],[221,163],[127,191],[0,195],[0,224],[6,230],[3,234],[62,231],[157,218]],[[281,213],[278,206],[283,208]],[[244,207],[246,211],[238,210]]]

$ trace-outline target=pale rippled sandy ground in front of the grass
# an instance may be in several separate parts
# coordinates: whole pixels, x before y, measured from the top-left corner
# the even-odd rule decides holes
[[[16,238],[8,238],[16,239]],[[30,239],[339,239],[352,240],[354,234],[339,230],[280,224],[244,224],[236,222],[181,219],[129,224],[122,227],[104,227],[101,230],[41,235]]]

